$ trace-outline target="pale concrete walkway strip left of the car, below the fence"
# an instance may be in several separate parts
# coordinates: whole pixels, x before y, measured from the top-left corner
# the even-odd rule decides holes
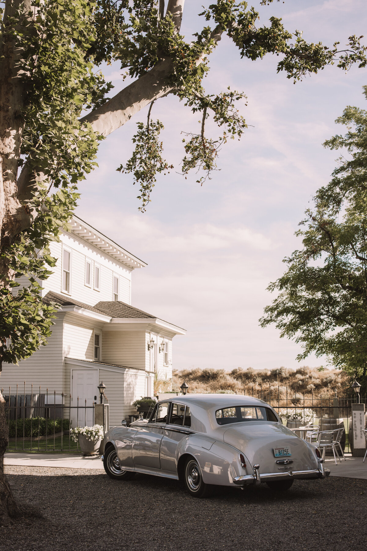
[[[69,467],[72,469],[103,469],[101,456],[76,453],[5,453],[4,465],[21,467]]]

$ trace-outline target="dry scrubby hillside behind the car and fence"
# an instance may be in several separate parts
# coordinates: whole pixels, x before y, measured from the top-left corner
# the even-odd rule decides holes
[[[259,371],[252,368],[237,368],[232,371],[224,369],[183,369],[174,370],[172,378],[172,390],[179,391],[183,381],[189,385],[189,392],[233,392],[247,395],[260,396],[263,393],[269,396],[278,394],[280,399],[285,399],[290,393],[297,392],[305,395],[338,396],[349,395],[350,380],[342,371],[327,370],[324,368],[311,369],[307,366],[293,371],[287,368],[278,368]]]

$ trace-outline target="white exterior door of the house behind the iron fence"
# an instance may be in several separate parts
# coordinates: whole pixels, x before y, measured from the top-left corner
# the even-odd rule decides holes
[[[98,398],[98,370],[73,369],[72,375],[72,426],[93,426],[93,404]]]

